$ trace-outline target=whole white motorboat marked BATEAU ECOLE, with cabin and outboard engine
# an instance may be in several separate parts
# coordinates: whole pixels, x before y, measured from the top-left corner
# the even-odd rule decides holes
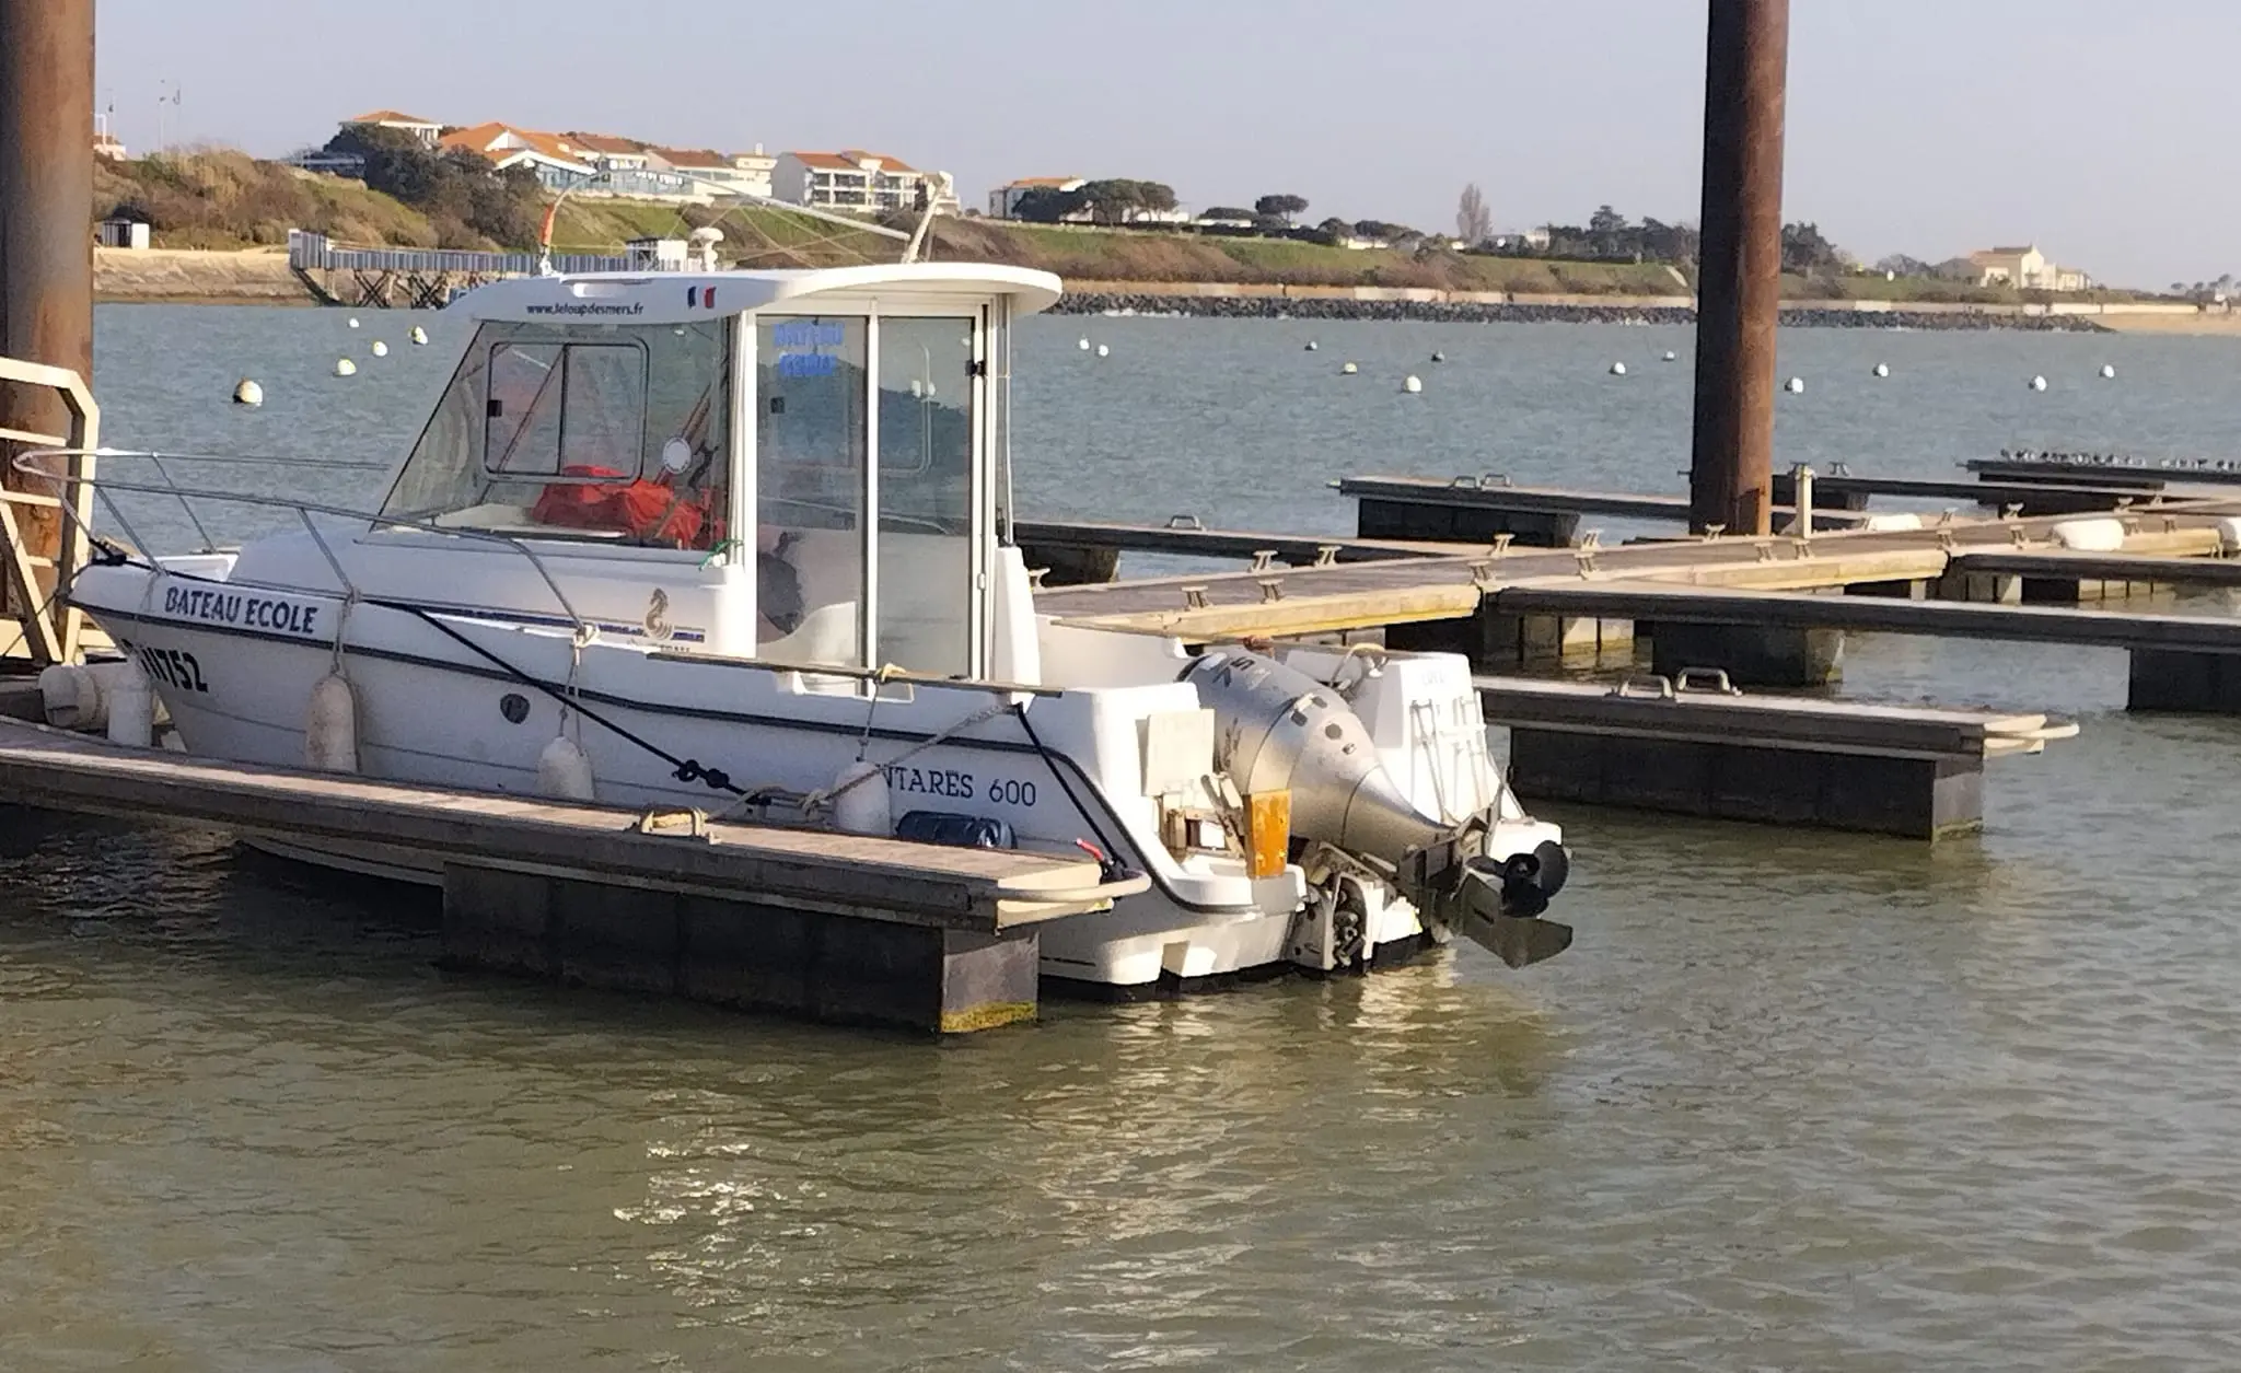
[[[1035,614],[1011,334],[1058,293],[973,264],[491,284],[379,511],[119,549],[72,596],[197,755],[1150,878],[1042,934],[1053,979],[1564,950],[1562,835],[1504,786],[1463,659],[1192,656]]]

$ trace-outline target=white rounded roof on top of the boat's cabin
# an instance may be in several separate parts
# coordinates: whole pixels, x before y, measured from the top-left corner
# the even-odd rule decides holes
[[[883,262],[780,271],[659,271],[515,278],[471,291],[455,309],[475,320],[551,325],[679,325],[818,296],[1008,296],[1035,314],[1064,291],[1049,271],[984,262]]]

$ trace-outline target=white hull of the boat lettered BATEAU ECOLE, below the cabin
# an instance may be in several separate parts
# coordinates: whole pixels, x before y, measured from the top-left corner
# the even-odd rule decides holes
[[[132,567],[90,569],[78,600],[155,679],[188,753],[303,766],[311,692],[338,663],[356,699],[359,770],[368,777],[536,795],[538,759],[567,732],[592,762],[596,800],[722,811],[735,797],[679,779],[679,764],[724,773],[746,791],[816,791],[858,757],[887,764],[908,753],[887,768],[894,815],[995,818],[1022,847],[1089,840],[1152,876],[1145,894],[1112,912],[1044,927],[1044,977],[1150,988],[1289,961],[1304,898],[1300,869],[1250,880],[1239,865],[1179,865],[1161,849],[1150,811],[1132,804],[1127,779],[1103,764],[1114,728],[1091,706],[1114,692],[1038,699],[1031,721],[1049,755],[1011,712],[926,746],[997,697],[921,685],[872,708],[852,683],[805,683],[650,643],[576,650],[560,632],[368,603],[345,616],[341,598],[226,589]],[[345,623],[350,647],[338,659],[332,636]],[[565,706],[565,690],[536,683],[574,683],[578,708]],[[1127,690],[1190,692],[1179,683]],[[441,880],[437,865],[397,849],[267,847],[350,871]],[[1423,934],[1407,903],[1378,909],[1365,930],[1369,961],[1380,945],[1387,956],[1414,950]]]

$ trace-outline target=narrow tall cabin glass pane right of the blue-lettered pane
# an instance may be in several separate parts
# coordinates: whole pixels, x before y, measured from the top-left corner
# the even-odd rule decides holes
[[[878,320],[878,661],[973,672],[973,318]]]

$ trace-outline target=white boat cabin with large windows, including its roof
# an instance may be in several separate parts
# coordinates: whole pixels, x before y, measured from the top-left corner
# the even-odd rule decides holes
[[[636,598],[605,618],[654,585],[681,647],[984,679],[1024,594],[1011,327],[1058,293],[946,262],[498,282],[381,515]]]

